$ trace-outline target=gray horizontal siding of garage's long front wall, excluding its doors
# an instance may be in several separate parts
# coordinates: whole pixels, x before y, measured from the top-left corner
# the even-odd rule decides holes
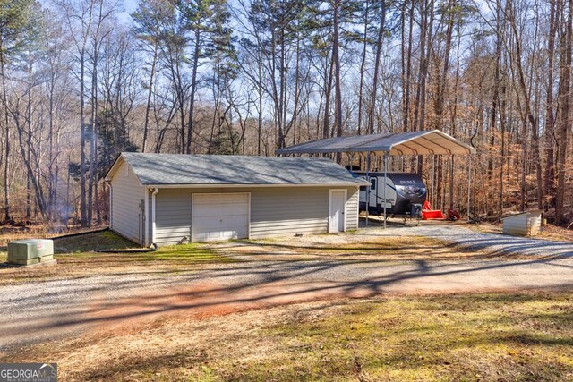
[[[250,192],[252,239],[326,233],[330,189],[346,189],[346,229],[355,230],[358,225],[357,187],[159,188],[156,195],[156,243],[164,246],[189,241],[192,193]]]

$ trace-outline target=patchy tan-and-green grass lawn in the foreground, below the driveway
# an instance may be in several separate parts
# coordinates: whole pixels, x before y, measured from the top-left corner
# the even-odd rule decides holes
[[[572,380],[573,293],[321,301],[42,344],[63,380]],[[6,360],[3,360],[6,361]]]

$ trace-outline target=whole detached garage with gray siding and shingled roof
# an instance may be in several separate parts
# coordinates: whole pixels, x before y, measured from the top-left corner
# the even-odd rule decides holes
[[[354,230],[366,183],[323,158],[141,153],[106,182],[110,228],[147,246]]]

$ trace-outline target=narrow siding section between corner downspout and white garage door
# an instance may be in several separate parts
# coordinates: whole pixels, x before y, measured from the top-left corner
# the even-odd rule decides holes
[[[155,196],[155,241],[158,246],[189,242],[191,238],[191,192],[159,189]]]

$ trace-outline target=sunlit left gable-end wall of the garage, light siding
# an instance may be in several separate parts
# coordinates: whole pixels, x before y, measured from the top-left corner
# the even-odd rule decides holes
[[[137,176],[124,162],[112,178],[112,206],[110,228],[127,239],[142,244],[144,188]]]

